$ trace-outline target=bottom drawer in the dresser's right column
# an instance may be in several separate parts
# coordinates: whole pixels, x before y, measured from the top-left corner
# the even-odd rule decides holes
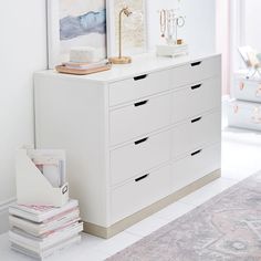
[[[221,168],[220,144],[192,152],[187,157],[173,164],[171,187],[181,189],[206,175]]]

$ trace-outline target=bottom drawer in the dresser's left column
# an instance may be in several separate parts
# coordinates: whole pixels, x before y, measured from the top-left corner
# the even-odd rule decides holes
[[[144,174],[112,190],[112,222],[115,223],[170,194],[170,166]]]

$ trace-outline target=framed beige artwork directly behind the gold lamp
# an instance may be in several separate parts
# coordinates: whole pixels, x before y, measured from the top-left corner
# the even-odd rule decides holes
[[[111,0],[109,1],[109,53],[118,54],[118,13],[128,7],[133,14],[124,18],[123,50],[124,54],[137,54],[147,51],[147,0]]]

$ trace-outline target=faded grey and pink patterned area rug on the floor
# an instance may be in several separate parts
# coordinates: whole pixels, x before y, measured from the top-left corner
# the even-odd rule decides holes
[[[261,173],[108,261],[261,261]]]

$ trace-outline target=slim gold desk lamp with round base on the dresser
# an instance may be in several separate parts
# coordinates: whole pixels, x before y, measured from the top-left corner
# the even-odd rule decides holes
[[[108,61],[114,64],[132,63],[132,58],[123,56],[123,43],[122,43],[122,29],[123,29],[123,14],[129,17],[132,12],[128,7],[123,8],[118,13],[118,56],[109,58]]]

